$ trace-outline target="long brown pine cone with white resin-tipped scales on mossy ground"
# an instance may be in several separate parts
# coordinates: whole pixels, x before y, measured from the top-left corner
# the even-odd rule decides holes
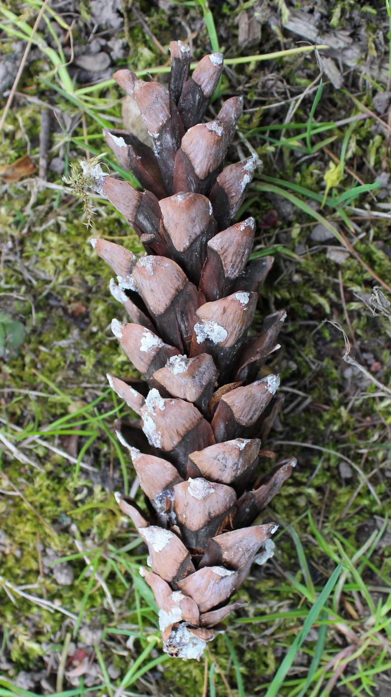
[[[141,574],[159,606],[164,650],[199,659],[222,620],[243,604],[230,597],[277,529],[251,523],[295,461],[268,472],[260,452],[281,400],[278,376],[257,375],[278,348],[285,312],[248,334],[273,259],[248,262],[252,217],[231,224],[258,164],[252,155],[223,167],[242,100],[228,99],[214,121],[202,123],[223,56],[205,56],[188,77],[189,48],[177,41],[170,49],[169,89],[129,70],[115,73],[136,99],[153,150],[124,130],[104,130],[143,191],[95,171],[95,188],[137,231],[147,254],[137,259],[109,241],[92,243],[113,269],[111,291],[129,314],[128,324],[113,320],[113,333],[146,380],[142,394],[130,380],[108,376],[146,436],[126,424],[118,430],[147,512],[116,498],[150,553],[152,571]]]

